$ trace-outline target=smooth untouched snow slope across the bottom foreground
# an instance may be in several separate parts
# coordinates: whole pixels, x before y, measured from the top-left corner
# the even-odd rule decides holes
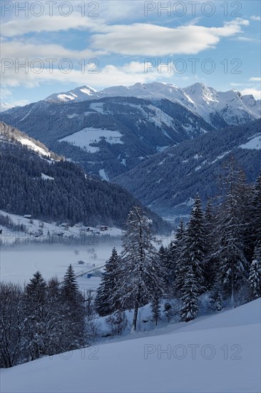
[[[260,299],[1,370],[1,392],[260,392]]]

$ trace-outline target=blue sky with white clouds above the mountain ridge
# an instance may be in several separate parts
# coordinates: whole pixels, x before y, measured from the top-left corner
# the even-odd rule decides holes
[[[260,23],[256,0],[2,0],[2,109],[151,81],[260,99]]]

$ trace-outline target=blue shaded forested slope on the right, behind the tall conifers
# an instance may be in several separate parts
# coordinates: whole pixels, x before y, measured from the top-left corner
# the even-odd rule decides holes
[[[156,154],[114,181],[155,212],[188,214],[197,192],[204,204],[218,193],[222,164],[231,154],[247,181],[255,181],[261,165],[260,127],[257,120],[198,136]]]

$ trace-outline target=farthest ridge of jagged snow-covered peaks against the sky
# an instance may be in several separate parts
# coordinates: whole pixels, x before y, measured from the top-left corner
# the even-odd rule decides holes
[[[239,91],[216,91],[203,83],[195,83],[181,89],[175,84],[153,82],[136,83],[133,86],[113,86],[96,91],[88,86],[81,86],[66,93],[52,94],[46,100],[85,101],[101,97],[136,97],[149,100],[168,99],[182,104],[198,114],[211,125],[220,128],[225,125],[237,125],[259,119],[260,102],[254,96],[242,96]]]

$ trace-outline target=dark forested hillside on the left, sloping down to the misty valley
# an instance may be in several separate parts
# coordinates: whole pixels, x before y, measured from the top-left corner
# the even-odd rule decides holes
[[[1,128],[0,209],[5,212],[56,222],[86,222],[121,227],[129,210],[139,204],[128,191],[87,176],[76,164],[52,159],[44,146],[41,154],[28,149]],[[15,131],[19,137],[19,131]],[[25,138],[25,135],[24,135]],[[15,142],[15,143],[14,143]],[[149,212],[155,228],[165,224]]]

